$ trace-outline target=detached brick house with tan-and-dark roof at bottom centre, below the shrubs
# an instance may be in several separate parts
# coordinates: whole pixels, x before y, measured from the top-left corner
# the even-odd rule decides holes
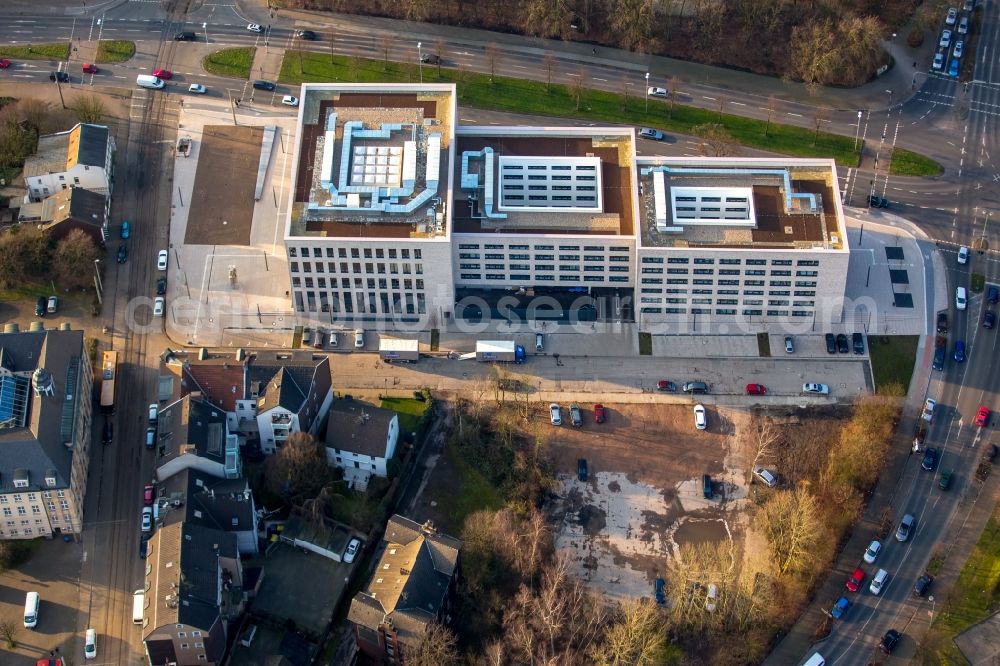
[[[462,542],[395,515],[368,586],[351,601],[347,619],[358,647],[383,663],[405,664],[430,625],[447,623]]]

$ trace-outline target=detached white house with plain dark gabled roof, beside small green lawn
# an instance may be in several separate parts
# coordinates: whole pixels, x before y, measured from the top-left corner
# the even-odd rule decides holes
[[[396,453],[399,417],[360,400],[334,400],[326,424],[326,457],[344,470],[344,479],[363,489],[372,476],[388,475]]]

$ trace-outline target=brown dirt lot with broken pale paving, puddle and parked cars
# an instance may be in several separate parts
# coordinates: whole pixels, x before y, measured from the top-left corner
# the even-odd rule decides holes
[[[738,534],[744,464],[730,452],[740,412],[708,410],[698,431],[690,405],[605,405],[607,421],[584,410],[581,428],[549,441],[561,497],[546,507],[556,547],[584,580],[613,598],[652,596],[654,579],[682,543]],[[586,482],[577,460],[586,458]],[[704,498],[702,475],[712,476]]]

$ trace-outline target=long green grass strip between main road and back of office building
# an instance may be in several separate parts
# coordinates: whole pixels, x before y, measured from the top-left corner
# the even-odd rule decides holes
[[[497,76],[491,82],[487,74],[448,68],[440,71],[439,76],[438,67],[425,65],[424,82],[458,83],[458,102],[463,106],[645,125],[684,134],[691,134],[698,125],[720,123],[735,142],[751,148],[798,157],[832,157],[843,166],[858,164],[859,151],[854,148],[854,137],[816,133],[809,128],[778,123],[771,123],[767,128],[763,121],[681,104],[675,104],[671,111],[669,105],[660,100],[649,100],[646,111],[642,96],[630,96],[626,100],[611,92],[575,90],[572,86],[555,84],[547,87],[543,81]],[[306,81],[416,82],[420,80],[420,71],[412,64],[286,51],[279,80],[289,84]]]

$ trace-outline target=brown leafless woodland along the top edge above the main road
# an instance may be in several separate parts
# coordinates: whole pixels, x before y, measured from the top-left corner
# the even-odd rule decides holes
[[[288,7],[385,16],[579,41],[821,85],[856,86],[888,62],[881,41],[913,0],[285,0]]]

